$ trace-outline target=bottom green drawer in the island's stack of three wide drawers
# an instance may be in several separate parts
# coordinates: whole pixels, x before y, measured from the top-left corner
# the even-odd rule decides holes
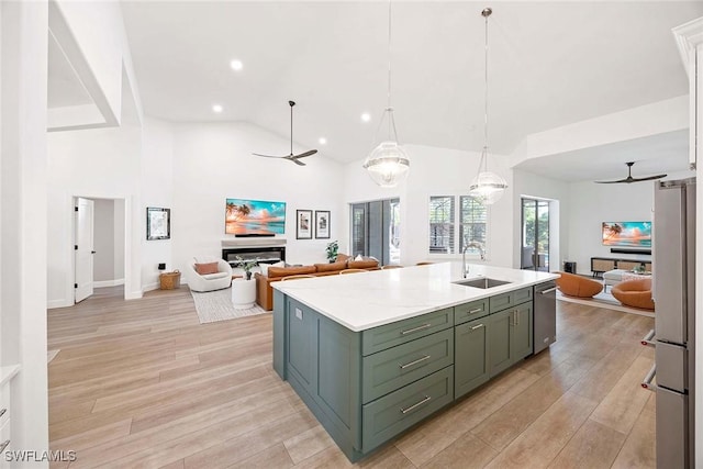
[[[364,405],[362,453],[388,442],[453,400],[450,366]]]

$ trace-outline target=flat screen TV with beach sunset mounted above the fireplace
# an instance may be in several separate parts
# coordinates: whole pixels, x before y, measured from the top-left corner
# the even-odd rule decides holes
[[[225,234],[274,236],[286,233],[286,202],[227,199]]]

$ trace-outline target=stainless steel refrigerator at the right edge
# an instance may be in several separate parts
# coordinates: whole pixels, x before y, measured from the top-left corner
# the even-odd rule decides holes
[[[695,382],[695,178],[657,181],[654,198],[657,467],[693,468]]]

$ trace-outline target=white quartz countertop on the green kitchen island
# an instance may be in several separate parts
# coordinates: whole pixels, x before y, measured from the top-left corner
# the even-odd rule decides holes
[[[277,281],[271,287],[343,326],[359,332],[542,283],[556,279],[559,275],[469,265],[467,278],[477,277],[506,280],[510,283],[490,289],[453,283],[462,280],[461,263],[454,261]]]

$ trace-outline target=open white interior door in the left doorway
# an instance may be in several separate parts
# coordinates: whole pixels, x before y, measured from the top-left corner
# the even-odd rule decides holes
[[[92,294],[93,202],[78,198],[76,203],[76,303]]]

